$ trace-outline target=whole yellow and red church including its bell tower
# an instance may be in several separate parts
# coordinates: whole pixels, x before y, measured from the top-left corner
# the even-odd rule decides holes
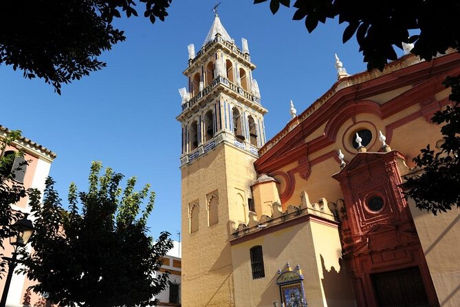
[[[460,212],[418,211],[400,187],[457,53],[406,54],[338,81],[265,140],[248,44],[216,14],[189,45],[182,112],[183,306],[460,306]],[[448,252],[446,252],[448,251]]]

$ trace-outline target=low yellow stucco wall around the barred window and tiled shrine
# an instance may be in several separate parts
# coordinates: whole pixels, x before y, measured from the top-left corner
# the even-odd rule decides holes
[[[263,249],[265,277],[252,279],[250,248],[257,245]],[[234,244],[236,306],[272,307],[274,301],[280,302],[276,272],[285,270],[287,262],[293,270],[300,265],[309,306],[355,306],[349,279],[340,269],[340,251],[337,228],[317,222],[302,222]]]

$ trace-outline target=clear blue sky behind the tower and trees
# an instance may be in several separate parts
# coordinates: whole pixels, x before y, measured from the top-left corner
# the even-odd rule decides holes
[[[61,198],[70,182],[85,190],[92,160],[127,177],[138,188],[151,183],[157,193],[149,220],[156,237],[180,230],[179,87],[186,86],[187,45],[198,52],[214,15],[215,1],[173,1],[165,22],[116,21],[127,41],[101,56],[107,67],[63,86],[62,95],[40,79],[29,81],[12,67],[0,66],[0,125],[58,154],[50,171]],[[138,12],[142,16],[142,8]],[[329,20],[312,34],[303,21],[292,21],[294,9],[283,6],[273,16],[268,3],[223,0],[219,17],[241,47],[248,39],[253,77],[261,90],[267,137],[289,120],[289,100],[298,113],[336,81],[334,53],[350,74],[366,69],[355,39],[342,44],[344,25]]]

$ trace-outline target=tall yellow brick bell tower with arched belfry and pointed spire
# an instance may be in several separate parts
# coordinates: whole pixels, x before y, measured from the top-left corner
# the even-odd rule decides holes
[[[215,18],[200,50],[188,45],[182,112],[182,303],[234,306],[230,232],[247,224],[265,144],[248,41],[239,48]],[[253,210],[253,209],[252,209]],[[236,225],[236,226],[235,226]]]

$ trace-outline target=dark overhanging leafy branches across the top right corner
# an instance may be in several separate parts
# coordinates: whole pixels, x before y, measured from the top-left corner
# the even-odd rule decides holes
[[[275,14],[280,5],[289,7],[290,3],[270,0],[270,10]],[[368,70],[383,70],[388,60],[396,60],[393,46],[402,48],[403,42],[415,43],[411,52],[427,61],[450,47],[459,49],[458,0],[296,0],[294,8],[293,19],[305,19],[308,32],[327,19],[338,17],[339,23],[348,23],[343,42],[356,36]]]

